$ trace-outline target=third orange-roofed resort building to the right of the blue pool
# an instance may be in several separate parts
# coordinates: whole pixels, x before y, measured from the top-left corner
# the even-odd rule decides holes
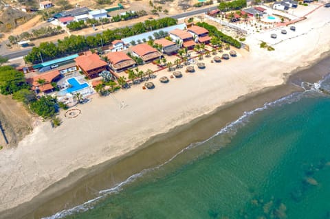
[[[140,57],[144,63],[151,62],[162,57],[162,54],[157,49],[146,43],[131,47],[131,51],[133,56]]]

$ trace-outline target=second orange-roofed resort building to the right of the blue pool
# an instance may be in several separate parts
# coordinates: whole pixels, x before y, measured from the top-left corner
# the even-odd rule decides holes
[[[135,67],[136,62],[122,51],[113,51],[107,54],[109,58],[110,67],[113,71],[124,71],[131,67]]]

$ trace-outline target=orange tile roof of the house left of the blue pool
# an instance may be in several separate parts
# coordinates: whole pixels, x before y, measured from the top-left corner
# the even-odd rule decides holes
[[[54,80],[54,78],[57,78],[60,75],[61,73],[58,70],[49,71],[46,73],[42,73],[39,76],[28,78],[26,81],[32,85],[32,89],[36,89],[36,87],[38,87],[40,91],[48,91],[50,89],[53,89],[53,86],[50,83]],[[41,86],[41,84],[39,84],[38,82],[39,79],[45,80],[45,84]]]

